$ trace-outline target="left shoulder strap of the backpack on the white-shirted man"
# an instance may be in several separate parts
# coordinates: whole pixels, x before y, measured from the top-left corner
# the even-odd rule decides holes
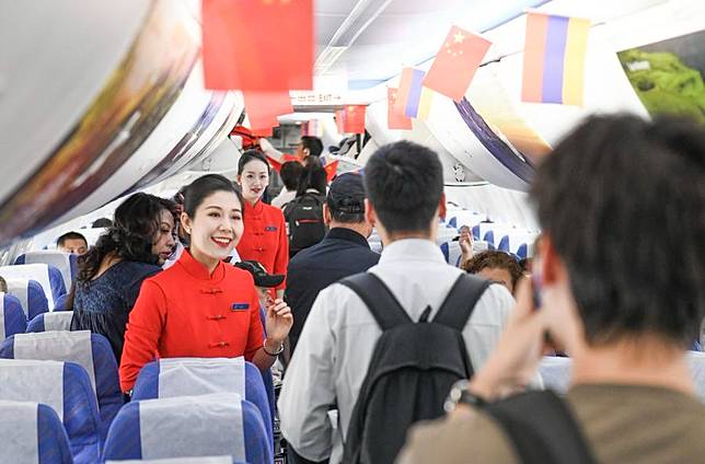
[[[414,321],[406,314],[394,293],[372,272],[356,274],[338,283],[352,290],[365,302],[382,330]]]

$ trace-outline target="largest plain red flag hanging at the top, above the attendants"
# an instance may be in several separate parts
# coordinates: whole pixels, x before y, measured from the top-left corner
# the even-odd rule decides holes
[[[313,88],[313,0],[203,0],[206,89]]]

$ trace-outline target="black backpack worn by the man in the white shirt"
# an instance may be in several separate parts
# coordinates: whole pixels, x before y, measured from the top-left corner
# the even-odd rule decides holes
[[[407,429],[442,416],[453,383],[473,375],[462,329],[489,282],[460,276],[434,320],[428,306],[418,323],[373,274],[340,283],[362,299],[383,332],[352,410],[343,462],[392,463]]]

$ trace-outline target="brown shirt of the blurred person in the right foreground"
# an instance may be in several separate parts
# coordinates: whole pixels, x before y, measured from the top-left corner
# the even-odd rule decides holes
[[[705,463],[705,404],[656,386],[573,387],[567,402],[597,461],[604,464]],[[397,463],[520,464],[499,425],[463,408],[415,427]]]

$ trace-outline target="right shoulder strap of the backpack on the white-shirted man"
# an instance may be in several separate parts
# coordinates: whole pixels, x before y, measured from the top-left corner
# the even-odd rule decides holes
[[[489,283],[488,280],[479,277],[462,274],[446,295],[434,322],[463,332],[477,301]]]

